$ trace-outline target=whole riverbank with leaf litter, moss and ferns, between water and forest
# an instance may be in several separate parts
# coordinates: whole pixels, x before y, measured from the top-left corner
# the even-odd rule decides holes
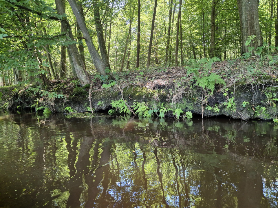
[[[51,112],[85,112],[90,111],[91,87],[93,111],[129,112],[128,104],[142,116],[189,118],[192,113],[273,120],[278,115],[278,70],[273,60],[258,59],[215,63],[213,59],[200,60],[185,67],[111,73],[111,79],[96,75],[92,85],[84,87],[75,79],[52,80],[52,86],[45,90],[32,85],[5,86],[0,88],[0,105],[18,110],[34,107]]]

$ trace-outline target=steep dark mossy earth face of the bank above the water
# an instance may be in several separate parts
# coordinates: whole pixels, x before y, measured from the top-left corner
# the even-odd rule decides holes
[[[65,112],[71,107],[76,112],[89,111],[89,86],[83,88],[65,85],[62,99],[49,99],[39,93],[18,90],[15,87],[2,87],[1,107],[6,109],[26,109],[38,106],[48,107],[52,112]],[[57,89],[56,89],[57,90]],[[278,88],[265,88],[264,85],[246,86],[235,84],[229,88],[216,88],[208,94],[202,88],[184,88],[167,85],[163,81],[152,81],[146,86],[129,85],[122,88],[123,97],[132,106],[134,101],[145,102],[149,109],[182,109],[204,117],[229,116],[236,119],[272,120],[278,116]],[[92,90],[94,111],[111,109],[111,102],[122,100],[118,86]],[[169,110],[166,116],[172,117]]]

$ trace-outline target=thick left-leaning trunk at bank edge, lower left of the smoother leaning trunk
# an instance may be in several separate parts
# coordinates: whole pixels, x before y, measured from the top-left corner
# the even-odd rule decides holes
[[[65,4],[63,3],[63,0],[55,0],[55,3],[56,3],[56,10],[57,10],[58,14],[63,15],[64,14],[63,12],[65,11],[65,9],[64,9]],[[81,16],[81,14],[80,14],[80,16]],[[71,29],[67,19],[63,18],[61,20],[61,23],[62,23],[64,31],[66,31],[66,36],[69,37],[71,40],[74,40],[73,35],[72,35],[72,29]],[[79,26],[80,26],[80,24],[79,24]],[[83,62],[80,54],[78,53],[76,44],[68,45],[67,49],[68,49],[68,54],[69,54],[70,60],[74,66],[75,72],[77,74],[78,79],[81,82],[81,85],[84,86],[86,84],[90,84],[91,83],[90,75],[88,74],[88,72],[85,69],[84,62]]]

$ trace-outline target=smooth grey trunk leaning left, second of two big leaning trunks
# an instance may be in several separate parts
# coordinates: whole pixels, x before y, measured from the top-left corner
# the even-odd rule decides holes
[[[56,0],[56,1],[61,1],[61,0]],[[91,36],[89,34],[89,31],[86,27],[84,19],[81,16],[81,12],[78,10],[78,7],[77,7],[77,4],[76,4],[75,0],[69,0],[69,5],[72,8],[72,11],[73,11],[74,16],[76,18],[76,22],[78,23],[78,25],[79,25],[79,27],[82,31],[83,37],[86,41],[89,53],[91,55],[91,58],[93,60],[93,63],[94,63],[94,66],[95,66],[96,70],[98,71],[98,73],[100,73],[100,75],[106,76],[106,74],[105,74],[105,64],[104,64],[103,60],[101,59],[100,55],[98,54],[98,52],[97,52],[97,50],[96,50],[96,48],[93,44],[92,38],[91,38]],[[77,50],[77,48],[76,48],[76,50]],[[77,53],[78,53],[78,51],[77,51]],[[80,57],[80,55],[79,55],[79,57]],[[79,73],[79,72],[77,73],[77,70],[76,70],[77,76],[82,76],[83,80],[84,81],[86,80],[85,84],[89,84],[89,83],[91,83],[90,82],[90,76],[89,76],[88,72],[85,70],[85,66],[84,66],[84,63],[83,63],[81,57],[80,57],[80,62],[82,62],[83,69],[82,69],[82,73]]]

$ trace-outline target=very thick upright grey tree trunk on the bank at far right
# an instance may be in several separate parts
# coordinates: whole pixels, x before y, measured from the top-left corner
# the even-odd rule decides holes
[[[261,31],[259,26],[259,12],[258,12],[258,0],[237,0],[240,31],[241,31],[241,52],[242,55],[248,52],[248,46],[245,46],[245,42],[248,36],[256,35],[254,43],[251,47],[257,49],[263,43],[261,37]]]

